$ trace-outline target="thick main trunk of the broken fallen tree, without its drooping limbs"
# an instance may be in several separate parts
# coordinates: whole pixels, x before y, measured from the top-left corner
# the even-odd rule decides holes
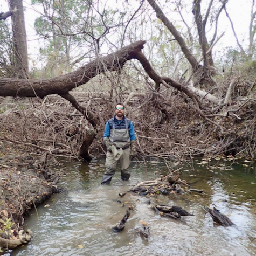
[[[78,70],[49,79],[14,79],[0,78],[0,96],[39,97],[49,94],[65,95],[73,88],[86,84],[96,75],[120,70],[127,60],[136,58],[146,41],[136,41],[106,57],[97,58]]]

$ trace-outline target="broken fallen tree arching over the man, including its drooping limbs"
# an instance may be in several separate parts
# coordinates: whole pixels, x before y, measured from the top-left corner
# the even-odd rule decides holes
[[[107,55],[103,58],[97,58],[85,66],[78,68],[78,70],[69,74],[60,75],[59,77],[50,79],[12,79],[0,77],[0,96],[21,96],[21,97],[39,97],[44,98],[49,94],[58,94],[70,101],[76,109],[81,112],[89,123],[92,124],[95,132],[99,125],[98,116],[95,116],[89,109],[79,105],[74,96],[69,94],[73,88],[86,84],[91,78],[95,77],[105,71],[119,71],[127,60],[137,59],[140,61],[144,70],[149,77],[155,81],[157,85],[163,84],[165,87],[174,87],[178,91],[190,96],[196,105],[199,114],[206,117],[202,112],[200,101],[190,89],[183,84],[176,82],[168,77],[161,77],[150,65],[148,59],[142,53],[142,49],[146,41],[136,41],[126,47],[123,47],[119,51]],[[209,119],[208,119],[209,120]],[[211,121],[212,122],[212,121]],[[88,135],[88,134],[87,134]],[[88,159],[88,147],[91,145],[95,135],[89,134],[89,137],[85,137],[85,143],[81,149],[80,154]]]

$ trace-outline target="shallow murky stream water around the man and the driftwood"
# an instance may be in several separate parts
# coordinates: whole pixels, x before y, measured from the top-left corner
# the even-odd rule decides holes
[[[236,160],[238,161],[238,160]],[[190,163],[191,164],[191,163]],[[246,166],[248,165],[248,166]],[[256,255],[256,177],[255,167],[247,162],[212,161],[211,166],[196,160],[184,165],[183,179],[206,195],[158,195],[151,203],[183,207],[195,216],[177,221],[159,216],[145,204],[147,197],[120,192],[139,181],[155,179],[168,172],[164,163],[133,162],[129,182],[121,183],[117,172],[110,185],[100,185],[103,161],[66,165],[61,186],[67,192],[54,195],[26,222],[34,238],[29,245],[11,252],[11,256],[85,256],[85,255]],[[119,179],[117,179],[119,178]],[[122,200],[124,207],[116,200]],[[115,226],[134,205],[125,229]],[[213,224],[202,206],[215,206],[236,226]],[[135,232],[141,221],[150,227],[150,237]]]

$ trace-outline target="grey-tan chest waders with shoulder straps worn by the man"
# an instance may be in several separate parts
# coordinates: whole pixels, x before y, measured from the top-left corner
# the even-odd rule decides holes
[[[128,168],[130,165],[130,133],[128,128],[128,121],[124,119],[126,128],[116,129],[114,119],[112,121],[112,129],[110,129],[109,140],[113,143],[117,150],[117,154],[112,152],[107,152],[106,157],[106,171],[103,175],[101,184],[109,184],[112,177],[115,174],[116,164],[120,161],[121,167],[121,179],[123,181],[128,181],[130,174]]]

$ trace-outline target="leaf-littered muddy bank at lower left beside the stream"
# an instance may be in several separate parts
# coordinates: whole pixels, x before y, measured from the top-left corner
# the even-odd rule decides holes
[[[31,239],[30,234],[23,231],[24,218],[30,209],[59,192],[56,184],[61,169],[54,173],[50,164],[53,160],[47,154],[38,157],[25,153],[11,142],[0,141],[1,251]]]

